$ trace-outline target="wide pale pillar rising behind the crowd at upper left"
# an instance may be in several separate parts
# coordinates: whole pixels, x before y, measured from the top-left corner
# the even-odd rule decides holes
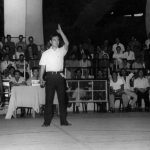
[[[42,7],[42,0],[4,0],[5,36],[33,36],[36,44],[43,44]]]

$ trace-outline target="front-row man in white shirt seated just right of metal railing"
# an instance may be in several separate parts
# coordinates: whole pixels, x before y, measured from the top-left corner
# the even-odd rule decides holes
[[[118,77],[117,72],[112,73],[112,79],[110,79],[110,93],[109,93],[109,102],[110,102],[110,111],[114,112],[115,109],[115,97],[121,97],[123,102],[126,101],[127,95],[124,93],[123,80]]]

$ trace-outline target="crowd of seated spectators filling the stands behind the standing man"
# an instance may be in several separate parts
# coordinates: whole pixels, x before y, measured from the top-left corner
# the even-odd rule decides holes
[[[145,111],[149,111],[150,34],[143,43],[134,36],[125,44],[118,37],[112,43],[105,40],[103,44],[93,45],[88,39],[82,44],[70,45],[64,61],[66,79],[107,80],[112,112],[118,96],[122,99],[124,110],[129,107],[141,110],[144,99]],[[16,43],[11,35],[2,38],[1,79],[9,79],[11,86],[31,85],[32,79],[39,80],[39,59],[49,47],[49,42],[46,46],[38,46],[32,36],[27,41],[19,35]]]

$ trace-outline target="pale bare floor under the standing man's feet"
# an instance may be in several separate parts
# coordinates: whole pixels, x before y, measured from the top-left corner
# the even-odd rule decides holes
[[[47,128],[42,117],[0,118],[0,150],[150,150],[150,113],[69,114],[68,127],[55,116]]]

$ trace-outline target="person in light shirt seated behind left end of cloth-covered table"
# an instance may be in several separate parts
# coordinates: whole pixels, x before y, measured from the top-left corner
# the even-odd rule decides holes
[[[10,84],[12,86],[20,86],[20,85],[26,85],[26,82],[23,77],[21,77],[21,73],[19,70],[15,70],[14,72],[15,76],[11,78]]]

